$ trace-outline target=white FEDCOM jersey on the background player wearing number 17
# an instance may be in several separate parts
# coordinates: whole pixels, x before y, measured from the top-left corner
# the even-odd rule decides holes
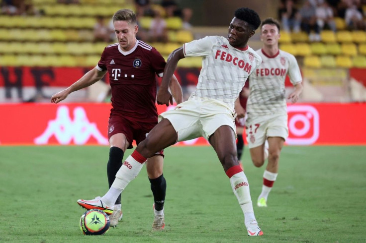
[[[287,114],[285,78],[293,85],[302,81],[295,57],[281,50],[270,57],[262,49],[257,51],[262,63],[249,78],[250,94],[247,102],[248,117],[271,114]]]

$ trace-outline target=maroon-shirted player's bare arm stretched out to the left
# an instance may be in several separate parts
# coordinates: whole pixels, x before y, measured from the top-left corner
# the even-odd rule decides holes
[[[105,73],[106,71],[99,71],[98,69],[96,69],[96,67],[94,67],[89,72],[84,74],[84,76],[81,77],[78,81],[70,85],[68,88],[52,95],[51,103],[59,103],[60,101],[65,100],[72,92],[92,85],[93,83],[100,80],[105,75]]]

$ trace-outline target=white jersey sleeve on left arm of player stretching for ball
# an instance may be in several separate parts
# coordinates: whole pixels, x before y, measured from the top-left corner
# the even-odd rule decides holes
[[[214,43],[215,37],[206,36],[205,38],[194,40],[183,45],[183,51],[185,57],[200,57],[210,54]]]

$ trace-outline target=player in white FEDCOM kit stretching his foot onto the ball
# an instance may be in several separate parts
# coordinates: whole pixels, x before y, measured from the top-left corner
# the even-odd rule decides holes
[[[203,136],[216,151],[230,179],[244,213],[247,234],[263,235],[254,216],[248,180],[239,166],[234,125],[234,102],[248,76],[262,62],[260,56],[247,45],[261,20],[249,8],[239,8],[234,15],[227,38],[208,36],[186,43],[171,53],[158,92],[158,104],[168,106],[172,101],[172,95],[168,91],[170,79],[178,61],[187,56],[202,57],[202,69],[196,90],[187,101],[159,116],[160,122],[126,159],[109,191],[98,202],[83,200],[84,202],[94,205],[95,208],[104,207],[110,210],[109,207],[119,193],[139,174],[147,158],[178,141]],[[244,117],[244,112],[238,115]]]

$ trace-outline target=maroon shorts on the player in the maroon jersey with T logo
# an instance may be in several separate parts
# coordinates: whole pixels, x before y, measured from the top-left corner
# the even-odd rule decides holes
[[[157,123],[158,122],[131,121],[130,119],[122,116],[110,115],[108,120],[108,140],[114,134],[123,133],[130,144],[128,148],[133,148],[133,140],[135,140],[138,145],[146,138],[147,133],[149,133]],[[164,150],[156,154],[164,157]]]

